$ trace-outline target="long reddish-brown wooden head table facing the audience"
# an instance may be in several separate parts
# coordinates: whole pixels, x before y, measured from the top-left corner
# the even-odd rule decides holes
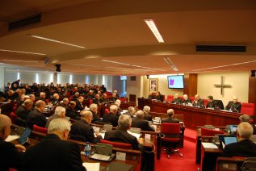
[[[186,127],[195,129],[198,125],[216,125],[225,127],[230,124],[239,124],[239,116],[242,114],[229,111],[216,111],[211,109],[198,108],[194,106],[183,106],[168,102],[153,102],[147,98],[138,98],[138,107],[150,106],[153,112],[166,113],[168,109],[174,109],[174,115],[184,115]]]

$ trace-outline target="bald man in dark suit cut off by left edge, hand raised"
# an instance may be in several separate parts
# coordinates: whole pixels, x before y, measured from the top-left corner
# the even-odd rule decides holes
[[[0,170],[8,171],[10,168],[20,169],[22,165],[22,154],[26,150],[20,144],[6,142],[10,135],[10,118],[6,115],[0,115]]]

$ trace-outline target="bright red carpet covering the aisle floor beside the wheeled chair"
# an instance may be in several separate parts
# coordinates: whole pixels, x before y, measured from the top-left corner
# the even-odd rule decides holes
[[[156,161],[155,163],[155,170],[197,170],[197,168],[199,168],[199,165],[195,165],[195,140],[196,131],[186,128],[184,133],[184,147],[179,148],[180,151],[183,153],[183,158],[178,156],[178,154],[172,154],[170,156],[170,159],[168,159],[167,155],[162,152],[161,160]]]

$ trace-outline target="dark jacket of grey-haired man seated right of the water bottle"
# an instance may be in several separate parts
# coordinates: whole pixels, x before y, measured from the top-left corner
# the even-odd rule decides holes
[[[139,149],[139,143],[136,140],[136,137],[128,134],[126,130],[115,129],[106,131],[104,139],[120,143],[132,144],[132,149]]]

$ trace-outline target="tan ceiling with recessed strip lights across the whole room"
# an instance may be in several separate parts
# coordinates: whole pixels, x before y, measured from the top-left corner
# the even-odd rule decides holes
[[[40,23],[7,30],[9,22],[36,13],[42,13]],[[157,42],[144,23],[148,18],[154,19],[164,44]],[[254,0],[3,1],[0,49],[46,55],[0,52],[0,62],[45,70],[54,70],[57,63],[64,72],[111,75],[251,70],[256,69],[255,21]],[[247,52],[195,52],[195,44],[242,44]],[[166,64],[164,57],[172,60],[178,72]],[[44,65],[46,58],[49,65]]]

